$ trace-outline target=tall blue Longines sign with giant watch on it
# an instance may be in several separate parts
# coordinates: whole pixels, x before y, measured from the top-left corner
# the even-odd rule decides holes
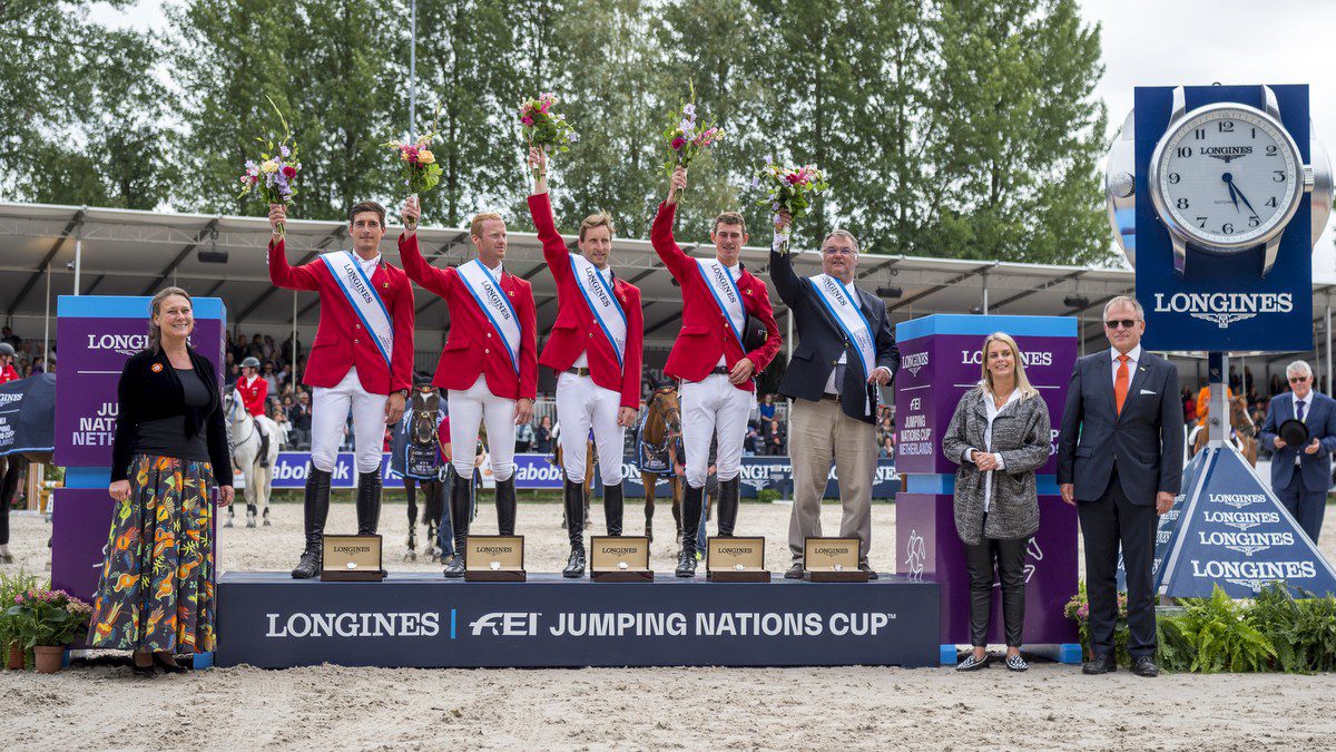
[[[1281,122],[1295,139],[1303,163],[1309,163],[1308,87],[1272,86]],[[1275,266],[1263,276],[1264,249],[1255,246],[1229,256],[1209,254],[1188,246],[1182,274],[1174,270],[1170,234],[1157,215],[1150,194],[1152,157],[1173,110],[1173,87],[1137,87],[1136,90],[1136,205],[1137,205],[1137,300],[1146,309],[1144,344],[1153,351],[1308,351],[1312,349],[1312,215],[1311,198],[1303,194],[1299,209],[1280,240]],[[1184,88],[1188,115],[1205,104],[1233,102],[1264,108],[1261,86],[1197,86]],[[1208,205],[1201,217],[1192,211],[1186,219],[1200,219],[1201,231],[1244,231],[1249,222],[1259,221],[1283,197],[1293,179],[1303,181],[1303,169],[1268,171],[1250,195],[1242,195],[1245,170],[1252,173],[1259,159],[1276,159],[1284,167],[1283,150],[1267,146],[1253,127],[1245,122],[1209,122],[1209,134],[1185,136],[1177,150],[1178,157],[1205,161],[1212,175],[1209,185],[1197,189],[1205,194]],[[1229,132],[1221,131],[1228,126]],[[1236,130],[1237,128],[1237,130]],[[1224,140],[1220,140],[1224,139]],[[1220,140],[1220,143],[1216,143]],[[1208,146],[1209,145],[1209,146]],[[1256,145],[1256,146],[1255,146]],[[1196,150],[1196,151],[1193,151]],[[1248,162],[1245,162],[1248,161]],[[1196,170],[1198,166],[1193,165]],[[1264,163],[1269,169],[1271,165]],[[1213,178],[1220,175],[1220,181]],[[1236,178],[1236,174],[1240,175]],[[1176,173],[1165,179],[1174,181]],[[1182,179],[1182,178],[1180,178]],[[1269,190],[1273,182],[1276,189]],[[1234,186],[1240,186],[1236,189]],[[1240,198],[1242,203],[1240,203]],[[1186,197],[1174,201],[1189,203]],[[1283,203],[1283,202],[1281,202]],[[1178,209],[1184,209],[1178,205]],[[1256,205],[1256,206],[1253,206]],[[1196,207],[1193,207],[1196,209]],[[1216,227],[1212,218],[1224,211],[1229,222]]]

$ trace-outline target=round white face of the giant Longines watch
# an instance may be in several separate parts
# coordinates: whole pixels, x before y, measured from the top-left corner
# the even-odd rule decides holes
[[[1206,249],[1241,250],[1284,231],[1303,195],[1293,139],[1241,106],[1208,106],[1165,134],[1152,171],[1160,215]]]

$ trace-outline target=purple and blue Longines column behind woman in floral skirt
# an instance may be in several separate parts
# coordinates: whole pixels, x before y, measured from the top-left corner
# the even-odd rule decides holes
[[[116,384],[130,356],[148,347],[151,302],[151,297],[60,296],[56,304],[55,463],[65,468],[65,484],[56,490],[52,512],[51,583],[88,601],[98,589],[111,530],[107,486],[119,409]],[[227,309],[215,297],[192,302],[191,347],[214,364],[222,388]],[[214,541],[216,558],[216,535]],[[196,665],[210,660],[200,656]]]

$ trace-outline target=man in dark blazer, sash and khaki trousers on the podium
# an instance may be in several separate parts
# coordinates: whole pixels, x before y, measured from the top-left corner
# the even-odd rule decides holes
[[[783,229],[787,217],[776,226]],[[776,238],[780,234],[776,233]],[[794,464],[794,511],[788,549],[794,563],[784,577],[803,575],[803,542],[822,534],[822,496],[831,458],[839,476],[842,538],[858,538],[858,567],[876,578],[867,563],[872,541],[872,480],[876,476],[876,387],[900,367],[900,351],[886,304],[854,286],[858,240],[835,230],[822,244],[822,274],[794,273],[787,244],[770,253],[770,276],[798,325],[798,347],[779,381],[794,400],[788,420],[788,454]]]

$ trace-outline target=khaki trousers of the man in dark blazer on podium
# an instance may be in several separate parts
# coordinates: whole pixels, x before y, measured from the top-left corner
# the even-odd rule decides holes
[[[858,559],[867,562],[872,545],[872,480],[876,476],[876,430],[844,415],[834,400],[794,400],[788,421],[788,454],[794,463],[794,512],[788,519],[788,550],[803,561],[803,541],[822,534],[822,496],[831,459],[844,507],[839,537],[858,538]]]

